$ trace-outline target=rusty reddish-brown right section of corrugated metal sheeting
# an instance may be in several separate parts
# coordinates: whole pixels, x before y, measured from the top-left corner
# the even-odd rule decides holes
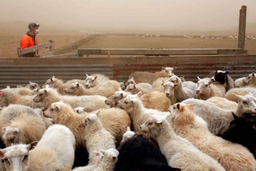
[[[236,80],[246,77],[249,73],[256,71],[256,62],[231,62],[231,63],[172,63],[172,64],[114,64],[114,78],[118,81],[126,80],[135,71],[157,72],[162,67],[177,67],[174,72],[179,77],[185,75],[185,80],[196,82],[197,77],[207,77],[215,70],[228,71]]]

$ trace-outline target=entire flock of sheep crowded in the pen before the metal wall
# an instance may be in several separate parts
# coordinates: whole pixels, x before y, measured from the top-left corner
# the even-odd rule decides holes
[[[176,69],[0,90],[0,170],[255,171],[255,73]]]

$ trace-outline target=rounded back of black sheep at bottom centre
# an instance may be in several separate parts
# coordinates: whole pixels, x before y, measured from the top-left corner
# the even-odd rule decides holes
[[[166,158],[152,141],[141,136],[127,140],[119,148],[115,171],[178,171],[168,166]]]

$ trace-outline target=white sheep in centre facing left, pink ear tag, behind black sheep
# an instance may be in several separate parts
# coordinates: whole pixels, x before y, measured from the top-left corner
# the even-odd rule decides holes
[[[156,109],[145,108],[138,97],[140,95],[141,92],[135,95],[129,94],[126,98],[124,98],[124,109],[130,115],[134,131],[138,133],[142,133],[140,130],[140,125],[144,123],[152,114],[166,114],[166,112],[161,112]],[[144,136],[148,137],[148,135]]]

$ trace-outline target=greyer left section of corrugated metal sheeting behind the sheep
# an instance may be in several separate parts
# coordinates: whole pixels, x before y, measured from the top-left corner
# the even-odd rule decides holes
[[[85,79],[86,74],[105,74],[113,78],[113,65],[0,65],[0,88],[26,85],[29,81],[42,85],[53,75],[64,81]]]

